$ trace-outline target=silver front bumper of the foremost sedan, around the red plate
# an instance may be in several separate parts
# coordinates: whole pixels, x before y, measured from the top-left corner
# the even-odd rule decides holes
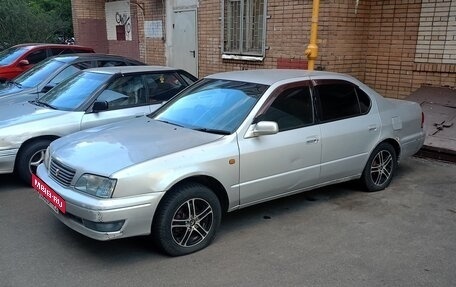
[[[157,192],[126,198],[94,198],[62,187],[48,176],[43,164],[38,167],[37,175],[66,202],[65,214],[53,212],[57,218],[71,229],[96,240],[150,234],[155,210],[164,194]],[[115,226],[114,231],[100,231],[111,226]]]

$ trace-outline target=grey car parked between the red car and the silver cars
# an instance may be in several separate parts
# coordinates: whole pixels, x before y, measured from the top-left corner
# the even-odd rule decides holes
[[[81,70],[137,65],[146,64],[122,56],[95,53],[51,57],[0,84],[0,105],[33,100]]]

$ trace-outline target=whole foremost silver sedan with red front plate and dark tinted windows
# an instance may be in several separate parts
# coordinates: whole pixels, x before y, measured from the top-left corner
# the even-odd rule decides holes
[[[214,239],[223,212],[347,180],[386,188],[422,146],[423,119],[343,74],[220,73],[151,115],[54,141],[32,185],[79,233],[151,234],[184,255]]]

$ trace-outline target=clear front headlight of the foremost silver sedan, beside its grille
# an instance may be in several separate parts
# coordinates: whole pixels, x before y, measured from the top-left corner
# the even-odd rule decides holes
[[[93,196],[110,198],[117,180],[94,174],[83,174],[74,188]]]

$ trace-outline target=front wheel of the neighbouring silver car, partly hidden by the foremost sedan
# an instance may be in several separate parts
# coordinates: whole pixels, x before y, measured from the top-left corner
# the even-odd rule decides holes
[[[50,140],[38,140],[20,149],[15,169],[25,184],[31,185],[32,173],[36,173],[36,168],[44,161],[44,153],[50,143]]]

